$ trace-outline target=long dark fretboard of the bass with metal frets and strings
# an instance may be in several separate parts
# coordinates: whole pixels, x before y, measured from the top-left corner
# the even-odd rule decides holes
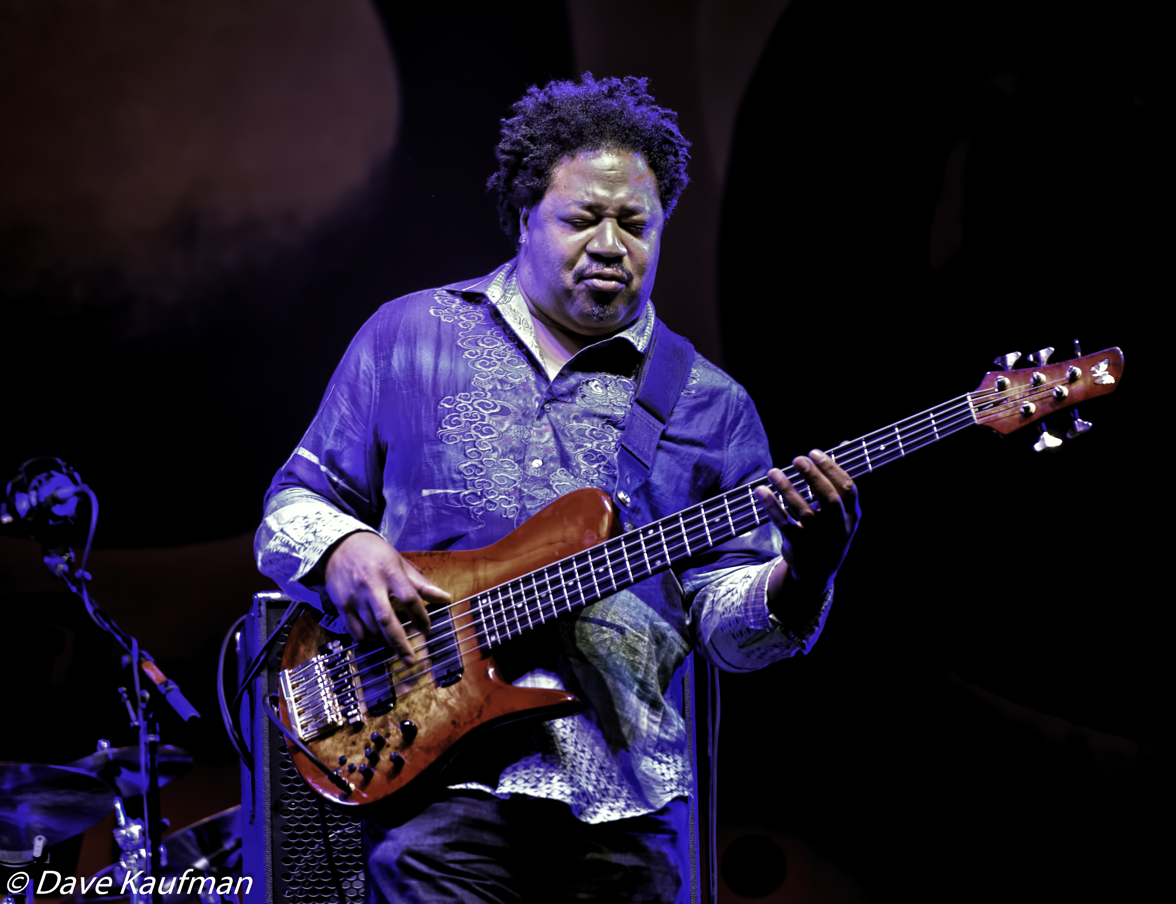
[[[990,404],[993,401],[977,394],[965,394],[827,454],[856,478],[976,423],[976,410]],[[796,468],[782,470],[804,498],[814,498]],[[477,594],[470,598],[470,611],[480,622],[482,638],[497,645],[754,530],[769,520],[755,495],[756,487],[768,483],[764,475]],[[775,488],[773,491],[780,496]]]

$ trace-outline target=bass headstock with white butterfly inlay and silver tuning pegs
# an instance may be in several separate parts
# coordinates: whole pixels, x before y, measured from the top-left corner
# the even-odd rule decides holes
[[[1042,353],[1036,353],[1036,360],[1048,359]],[[1003,360],[1011,364],[1016,360],[1014,356],[1020,357],[1014,353],[1005,355]],[[1002,359],[997,359],[998,363],[1001,361]],[[976,423],[991,427],[1001,434],[1010,434],[1054,411],[1114,393],[1122,375],[1123,353],[1118,348],[1105,348],[1093,355],[1056,364],[1042,363],[1018,370],[990,371],[968,394],[968,399],[976,415]],[[1084,429],[1089,429],[1089,424]]]

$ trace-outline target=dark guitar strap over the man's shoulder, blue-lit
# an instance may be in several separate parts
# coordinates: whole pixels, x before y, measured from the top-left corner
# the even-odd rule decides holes
[[[616,491],[613,498],[620,509],[624,530],[649,521],[639,491],[649,477],[657,441],[666,430],[674,403],[682,395],[693,361],[694,346],[690,341],[656,321],[649,354],[637,374],[637,394],[629,416],[624,418],[624,430],[616,450]]]

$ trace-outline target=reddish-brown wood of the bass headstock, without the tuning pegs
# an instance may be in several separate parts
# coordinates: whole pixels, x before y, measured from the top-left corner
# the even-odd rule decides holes
[[[1090,368],[1107,360],[1107,373],[1115,379],[1112,383],[1096,383]],[[1080,376],[1074,382],[1065,380],[1065,371],[1070,367],[1080,370]],[[1038,389],[1033,386],[1033,375],[1041,373],[1047,381],[1044,388]],[[1001,377],[1009,380],[1009,388],[998,394],[1002,404],[996,411],[976,410],[976,422],[984,427],[991,427],[1001,434],[1010,434],[1028,427],[1042,417],[1048,417],[1054,411],[1078,404],[1087,399],[1107,395],[1118,389],[1118,381],[1123,376],[1123,353],[1118,348],[1104,348],[1093,355],[1083,355],[1073,361],[1058,361],[1056,364],[1044,367],[1024,367],[1016,370],[994,370],[984,375],[980,386],[973,391],[973,397],[991,400],[991,393],[996,390],[996,381]],[[1051,394],[1055,381],[1067,388],[1064,399],[1055,399]],[[1033,402],[1036,410],[1033,414],[1024,414],[1018,406],[1022,402]]]

